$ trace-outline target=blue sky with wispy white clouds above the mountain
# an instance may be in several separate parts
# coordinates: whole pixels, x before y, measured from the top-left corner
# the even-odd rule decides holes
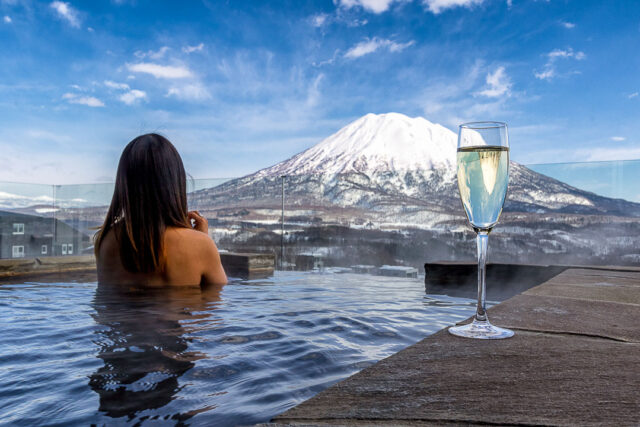
[[[0,180],[110,181],[157,131],[195,178],[369,112],[510,125],[522,163],[640,158],[640,2],[0,0]]]

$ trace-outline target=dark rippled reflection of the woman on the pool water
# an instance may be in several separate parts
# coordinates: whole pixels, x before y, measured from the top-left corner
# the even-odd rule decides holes
[[[117,289],[100,285],[93,306],[102,326],[96,333],[103,366],[89,386],[100,396],[99,411],[109,417],[134,418],[147,409],[169,404],[181,390],[179,378],[205,355],[189,351],[185,323],[207,317],[220,289],[199,287]],[[187,419],[194,413],[174,415]]]

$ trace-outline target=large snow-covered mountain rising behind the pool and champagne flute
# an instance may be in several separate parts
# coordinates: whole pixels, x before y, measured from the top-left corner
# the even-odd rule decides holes
[[[390,221],[436,224],[461,213],[457,135],[398,113],[367,114],[274,166],[193,194],[200,209],[288,206],[359,209]],[[640,204],[571,187],[511,162],[506,210],[640,216]]]

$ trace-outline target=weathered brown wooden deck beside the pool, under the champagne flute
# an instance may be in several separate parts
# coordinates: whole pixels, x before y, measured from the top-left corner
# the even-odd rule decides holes
[[[568,268],[488,313],[516,335],[442,330],[270,425],[640,425],[640,269]]]

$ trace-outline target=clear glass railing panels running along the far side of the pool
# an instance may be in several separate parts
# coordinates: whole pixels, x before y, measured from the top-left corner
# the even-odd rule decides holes
[[[639,265],[638,178],[640,161],[514,166],[489,261]],[[196,179],[188,192],[221,250],[273,253],[281,269],[411,275],[475,259],[451,170]],[[91,254],[112,193],[0,183],[0,258]]]

